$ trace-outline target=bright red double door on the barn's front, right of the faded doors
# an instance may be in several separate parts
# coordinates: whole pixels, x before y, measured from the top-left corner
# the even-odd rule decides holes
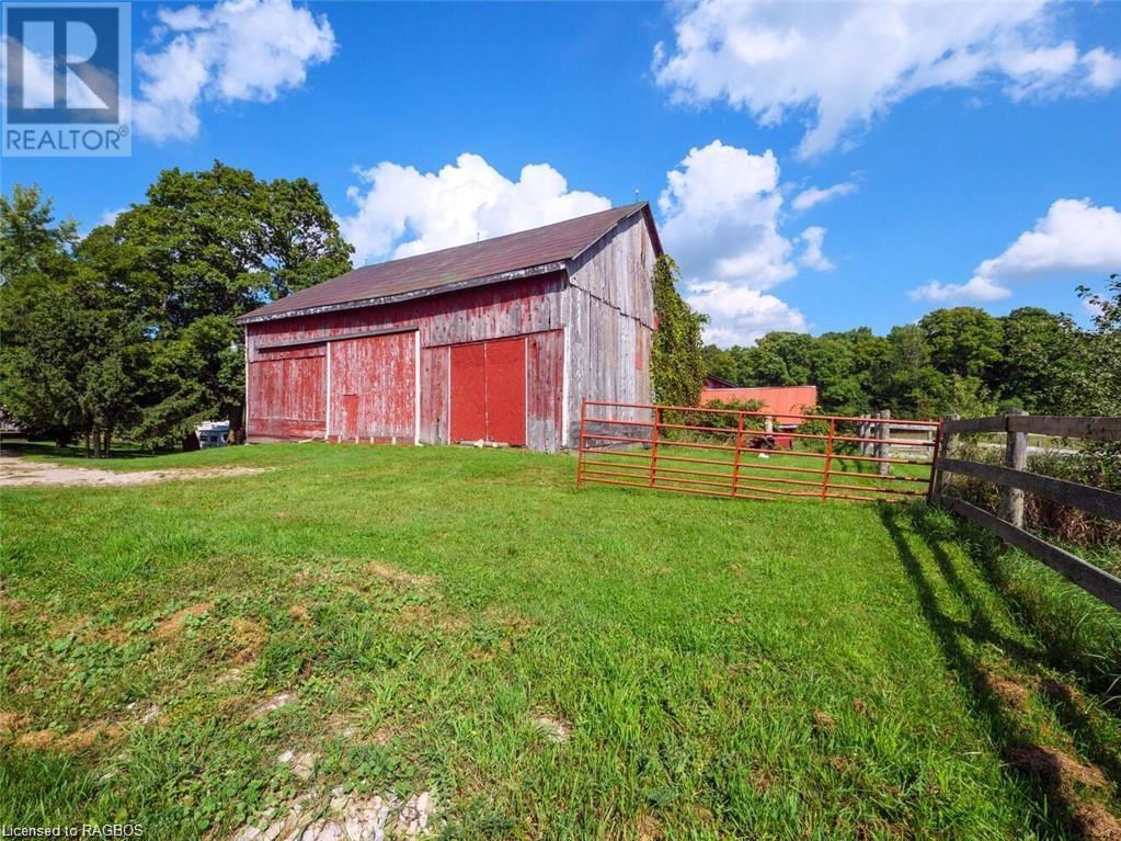
[[[452,348],[452,441],[526,445],[526,339]]]

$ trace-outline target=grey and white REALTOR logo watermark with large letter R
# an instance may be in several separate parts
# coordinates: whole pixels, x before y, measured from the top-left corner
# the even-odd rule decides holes
[[[132,151],[129,3],[3,4],[6,157]]]

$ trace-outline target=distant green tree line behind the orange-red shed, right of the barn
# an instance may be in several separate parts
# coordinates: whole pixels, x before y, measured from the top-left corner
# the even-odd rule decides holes
[[[1045,415],[1121,413],[1121,280],[1078,295],[1090,329],[1066,314],[1020,307],[935,309],[876,335],[772,332],[750,348],[701,351],[704,372],[736,386],[816,385],[822,410],[963,417],[1025,409]]]

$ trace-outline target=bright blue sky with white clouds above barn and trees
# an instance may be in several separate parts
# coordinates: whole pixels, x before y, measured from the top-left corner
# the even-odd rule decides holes
[[[316,181],[358,262],[638,191],[722,344],[956,303],[1085,320],[1075,285],[1121,270],[1119,3],[132,17],[131,157],[3,160],[4,191],[37,183],[85,229],[215,158]]]

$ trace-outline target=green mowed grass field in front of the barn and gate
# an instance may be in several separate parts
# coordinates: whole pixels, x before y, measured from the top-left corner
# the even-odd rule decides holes
[[[1121,811],[1115,709],[921,503],[577,491],[574,459],[517,451],[98,466],[221,464],[270,471],[0,491],[0,822],[224,839],[340,784],[432,792],[464,839],[1076,838]],[[1085,773],[1009,761],[1031,746]]]

